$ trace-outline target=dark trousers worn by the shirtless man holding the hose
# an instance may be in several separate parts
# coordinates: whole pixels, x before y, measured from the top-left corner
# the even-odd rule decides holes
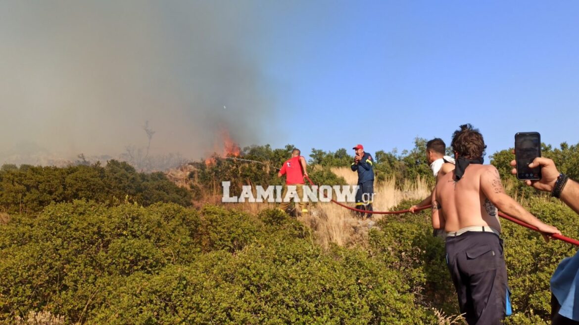
[[[492,232],[446,237],[446,263],[469,325],[501,324],[507,312],[503,241]]]

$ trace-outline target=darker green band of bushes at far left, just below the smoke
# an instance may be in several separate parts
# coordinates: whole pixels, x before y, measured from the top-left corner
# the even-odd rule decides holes
[[[93,200],[116,205],[124,200],[191,204],[192,195],[163,173],[138,173],[126,162],[65,168],[5,165],[0,168],[0,206],[11,213],[40,212],[51,202]]]

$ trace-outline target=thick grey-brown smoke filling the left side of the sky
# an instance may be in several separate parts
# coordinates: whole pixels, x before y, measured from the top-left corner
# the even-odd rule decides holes
[[[154,154],[199,158],[222,128],[242,146],[259,143],[273,109],[255,11],[218,1],[2,2],[0,164],[118,157],[146,147],[145,121]]]

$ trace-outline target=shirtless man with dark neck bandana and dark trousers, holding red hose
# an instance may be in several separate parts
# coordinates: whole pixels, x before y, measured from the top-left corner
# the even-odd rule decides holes
[[[537,227],[545,240],[546,234],[560,234],[505,194],[499,171],[482,165],[485,147],[478,130],[461,125],[452,138],[456,168],[438,180],[432,196],[433,227],[446,231],[446,261],[470,325],[500,324],[507,316],[507,268],[496,207]]]

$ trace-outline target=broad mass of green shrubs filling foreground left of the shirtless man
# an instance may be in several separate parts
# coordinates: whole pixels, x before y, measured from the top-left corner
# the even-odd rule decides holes
[[[278,210],[51,204],[0,226],[0,322],[434,324],[406,279]]]

